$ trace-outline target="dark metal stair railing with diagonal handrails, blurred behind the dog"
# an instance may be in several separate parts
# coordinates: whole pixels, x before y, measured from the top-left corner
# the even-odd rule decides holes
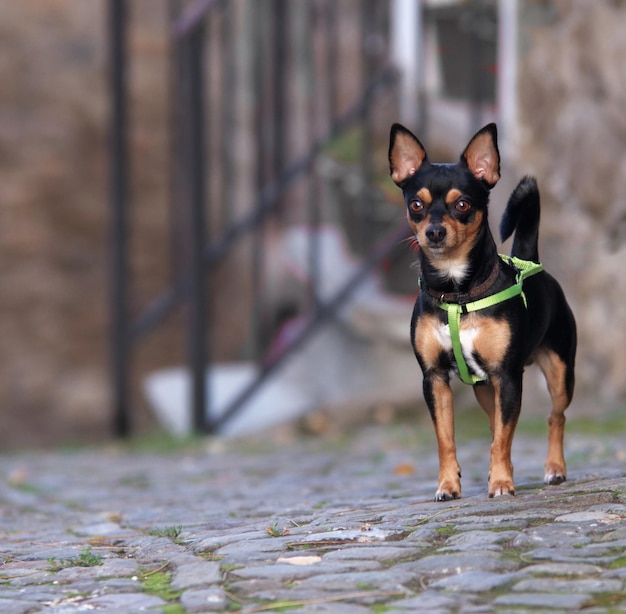
[[[192,416],[197,432],[213,432],[232,418],[273,370],[314,335],[321,322],[332,318],[360,282],[388,256],[406,236],[400,222],[369,250],[362,267],[352,279],[327,301],[320,299],[317,282],[320,276],[320,254],[317,241],[309,245],[309,278],[311,279],[308,309],[312,314],[306,327],[291,344],[270,361],[260,361],[261,325],[258,304],[262,293],[261,279],[265,259],[264,226],[270,221],[288,223],[284,199],[289,190],[299,186],[301,194],[296,208],[311,227],[323,218],[316,175],[316,162],[329,143],[336,142],[350,129],[358,126],[361,146],[354,163],[364,178],[363,206],[368,203],[371,182],[375,176],[372,148],[375,139],[373,109],[381,96],[393,92],[395,72],[385,62],[385,11],[387,3],[360,0],[353,7],[360,10],[359,32],[355,49],[348,50],[351,61],[358,60],[360,77],[355,79],[356,91],[346,93],[342,78],[346,67],[338,60],[340,50],[338,11],[342,3],[333,0],[310,0],[291,3],[285,0],[258,0],[254,3],[236,0],[196,0],[169,4],[171,25],[171,142],[174,188],[171,194],[170,225],[173,229],[170,249],[176,263],[169,287],[140,313],[131,316],[129,279],[129,155],[128,155],[128,2],[109,1],[110,64],[111,64],[111,329],[113,426],[117,435],[132,429],[131,355],[145,335],[159,326],[178,305],[187,307],[187,349],[192,381]],[[256,7],[254,16],[246,14]],[[345,6],[345,5],[344,5]],[[294,8],[297,7],[297,8]],[[297,13],[297,14],[296,14]],[[253,17],[258,21],[251,23]],[[300,28],[300,30],[298,30]],[[304,28],[304,29],[303,29]],[[308,46],[294,38],[308,32]],[[248,86],[252,89],[253,112],[249,130],[241,127],[233,102],[250,92],[237,91],[241,58],[236,49],[241,36],[251,36],[253,47],[247,59]],[[295,44],[295,49],[294,49]],[[290,53],[288,47],[291,46]],[[320,49],[322,51],[320,51]],[[310,54],[305,59],[300,56]],[[292,54],[295,54],[296,57]],[[300,56],[298,56],[300,54]],[[240,64],[237,66],[237,61]],[[302,65],[295,65],[301,62]],[[350,67],[349,70],[354,69]],[[316,92],[304,101],[309,126],[308,143],[294,153],[289,144],[290,123],[293,125],[293,97],[290,79],[304,78],[302,72],[323,83],[323,95]],[[239,71],[239,72],[238,72]],[[298,73],[298,71],[300,71]],[[342,72],[343,71],[343,72]],[[354,85],[354,84],[353,84]],[[239,84],[241,87],[241,84]],[[213,88],[213,89],[211,89]],[[351,101],[348,99],[352,99]],[[240,131],[239,133],[237,131]],[[242,132],[243,131],[243,132]],[[247,136],[256,161],[249,206],[241,206],[233,186],[241,171],[238,152],[233,147],[234,134]],[[218,152],[216,154],[216,152]],[[218,158],[217,160],[215,158]],[[215,169],[215,170],[213,170]],[[245,202],[245,199],[240,199]],[[370,199],[371,200],[371,199]],[[220,204],[218,204],[220,203]],[[217,228],[209,228],[209,215],[221,207]],[[234,212],[234,213],[233,213]],[[401,216],[398,216],[401,218]],[[250,241],[252,297],[250,299],[252,353],[260,362],[259,377],[241,392],[225,412],[212,417],[211,391],[206,370],[214,361],[210,313],[213,298],[211,270],[226,260],[242,241]]]

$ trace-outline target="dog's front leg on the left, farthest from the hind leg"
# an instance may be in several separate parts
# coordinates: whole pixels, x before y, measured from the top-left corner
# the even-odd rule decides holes
[[[439,453],[439,486],[435,501],[459,499],[461,497],[461,468],[456,458],[454,408],[449,380],[440,375],[426,374],[424,398],[435,427]]]

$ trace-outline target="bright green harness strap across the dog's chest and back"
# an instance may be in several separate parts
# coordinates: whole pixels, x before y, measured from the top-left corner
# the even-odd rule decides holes
[[[440,303],[439,308],[448,313],[448,326],[450,327],[450,339],[452,341],[452,352],[454,353],[454,359],[459,370],[459,377],[465,384],[474,385],[478,382],[484,381],[483,378],[474,375],[469,372],[465,357],[463,356],[463,348],[461,347],[461,314],[471,313],[473,311],[480,311],[481,309],[487,309],[493,307],[498,303],[503,303],[516,296],[522,296],[524,306],[528,308],[526,303],[526,296],[523,291],[524,279],[535,275],[543,270],[541,264],[532,262],[530,260],[521,260],[512,256],[504,256],[500,254],[500,258],[504,260],[508,265],[512,266],[517,271],[515,278],[515,284],[509,288],[505,288],[496,294],[486,296],[477,301],[460,305],[459,303]]]

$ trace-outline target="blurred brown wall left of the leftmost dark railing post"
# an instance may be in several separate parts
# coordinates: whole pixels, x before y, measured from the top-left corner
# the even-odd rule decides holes
[[[105,395],[101,2],[0,6],[0,444],[93,431]]]

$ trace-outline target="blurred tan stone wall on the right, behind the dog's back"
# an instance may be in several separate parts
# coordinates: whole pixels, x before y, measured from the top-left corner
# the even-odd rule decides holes
[[[521,4],[521,172],[542,191],[541,255],[579,328],[577,408],[626,394],[626,2]]]

